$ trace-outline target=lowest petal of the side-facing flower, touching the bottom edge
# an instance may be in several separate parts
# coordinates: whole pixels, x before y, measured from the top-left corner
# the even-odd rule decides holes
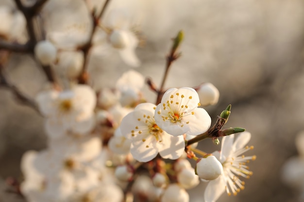
[[[216,202],[220,198],[220,195],[225,191],[225,186],[226,184],[223,180],[223,176],[210,181],[204,192],[205,202]]]

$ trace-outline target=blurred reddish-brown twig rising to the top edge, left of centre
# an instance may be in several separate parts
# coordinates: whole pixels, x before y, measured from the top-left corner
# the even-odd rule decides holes
[[[83,66],[83,69],[82,69],[82,71],[80,73],[80,76],[78,78],[79,83],[86,83],[87,82],[88,78],[87,78],[87,74],[86,74],[86,69],[87,69],[87,63],[88,63],[88,54],[89,54],[89,51],[92,47],[92,41],[93,41],[94,33],[95,33],[95,31],[98,27],[99,21],[101,20],[102,16],[105,13],[105,10],[106,10],[109,2],[110,2],[110,0],[106,0],[104,2],[103,7],[101,9],[101,12],[99,13],[98,16],[96,16],[94,11],[92,12],[91,19],[92,19],[92,22],[93,22],[93,28],[92,28],[90,37],[89,37],[88,41],[82,47],[79,47],[79,49],[82,50],[83,53],[84,53],[84,66]]]

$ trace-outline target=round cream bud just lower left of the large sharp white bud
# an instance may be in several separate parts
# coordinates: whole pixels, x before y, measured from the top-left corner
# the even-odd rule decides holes
[[[193,168],[186,168],[177,174],[178,183],[186,189],[193,188],[200,183],[199,176]]]

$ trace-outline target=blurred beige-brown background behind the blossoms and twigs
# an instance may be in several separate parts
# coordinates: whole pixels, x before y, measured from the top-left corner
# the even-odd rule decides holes
[[[79,2],[78,2],[79,1]],[[101,0],[90,5],[101,7]],[[30,3],[30,1],[29,1]],[[15,7],[13,0],[0,5]],[[213,123],[232,104],[226,127],[244,127],[252,133],[247,155],[253,176],[236,197],[223,194],[218,202],[296,202],[299,192],[284,185],[281,167],[297,155],[294,137],[304,129],[304,1],[303,0],[112,0],[108,11],[122,8],[140,25],[145,46],[136,49],[142,62],[136,71],[160,84],[170,39],[185,32],[182,57],[173,63],[166,87],[194,87],[213,83],[220,91],[217,105],[205,108]],[[46,30],[61,30],[88,22],[83,0],[49,0],[42,10]],[[64,16],[64,17],[63,17]],[[46,82],[34,60],[12,54],[7,71],[21,91],[35,96]],[[118,55],[92,54],[94,88],[115,86],[130,69]],[[148,101],[156,96],[144,88]],[[20,159],[27,150],[46,147],[43,119],[0,88],[0,202],[22,201],[5,192],[4,180],[22,179]],[[205,152],[220,146],[205,140]],[[303,168],[304,169],[304,168]],[[206,184],[189,191],[190,202],[203,202]]]

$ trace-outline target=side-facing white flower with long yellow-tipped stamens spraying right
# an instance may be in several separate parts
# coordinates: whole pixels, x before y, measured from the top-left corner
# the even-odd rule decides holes
[[[240,133],[235,141],[233,141],[234,134],[223,137],[221,151],[213,153],[223,166],[223,174],[209,182],[204,193],[205,202],[215,202],[225,190],[230,196],[231,192],[236,195],[237,192],[244,189],[245,183],[238,176],[249,178],[253,172],[248,170],[249,167],[246,166],[246,163],[256,158],[255,155],[242,155],[253,149],[253,146],[244,147],[250,138],[249,132]]]

